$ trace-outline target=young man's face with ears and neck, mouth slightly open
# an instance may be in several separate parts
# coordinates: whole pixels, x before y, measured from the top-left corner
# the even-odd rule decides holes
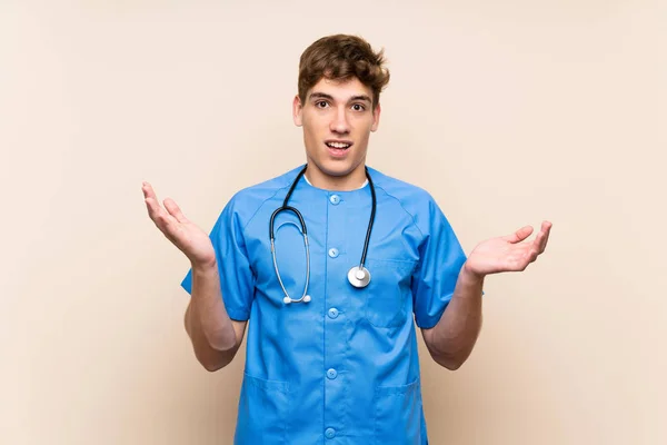
[[[322,78],[303,103],[297,95],[293,119],[303,127],[309,179],[323,187],[364,181],[368,139],[380,120],[369,87],[357,78],[345,82]]]

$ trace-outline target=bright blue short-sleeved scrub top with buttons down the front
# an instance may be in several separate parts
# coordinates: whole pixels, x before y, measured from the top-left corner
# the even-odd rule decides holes
[[[352,287],[370,187],[330,191],[302,177],[289,205],[307,225],[312,299],[286,305],[269,219],[301,168],[237,192],[210,234],[227,312],[249,319],[235,444],[427,444],[415,324],[438,323],[466,255],[428,192],[369,168],[371,280]],[[295,299],[306,280],[298,225],[288,211],[275,222],[278,268]],[[191,270],[182,287],[191,291]]]

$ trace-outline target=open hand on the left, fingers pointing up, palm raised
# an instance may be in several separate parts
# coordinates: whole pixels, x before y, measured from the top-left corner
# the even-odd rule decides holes
[[[215,264],[216,250],[211,239],[186,218],[173,199],[165,199],[165,208],[162,208],[150,184],[143,182],[141,189],[150,219],[167,239],[186,254],[192,265]]]

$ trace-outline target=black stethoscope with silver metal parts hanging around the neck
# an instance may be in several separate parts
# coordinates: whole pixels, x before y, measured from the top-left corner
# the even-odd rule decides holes
[[[282,293],[285,294],[285,298],[282,298],[282,301],[285,301],[285,304],[310,301],[310,295],[308,295],[308,285],[310,283],[310,247],[308,246],[308,233],[306,229],[306,221],[303,220],[303,217],[301,216],[301,212],[299,210],[287,205],[292,191],[295,190],[295,187],[297,186],[297,182],[299,182],[299,179],[301,179],[301,176],[303,176],[303,174],[306,172],[306,168],[308,168],[308,165],[306,165],[303,167],[303,169],[301,169],[301,171],[299,171],[299,175],[297,175],[297,178],[293,180],[291,187],[289,188],[289,191],[287,192],[287,196],[285,197],[285,201],[282,201],[282,207],[279,207],[273,211],[273,214],[271,215],[271,220],[269,222],[269,238],[271,239],[271,257],[273,258],[273,268],[276,269],[276,276],[278,277],[278,281],[280,283]],[[368,229],[366,230],[366,240],[364,241],[364,251],[361,254],[361,261],[359,263],[359,266],[352,266],[350,268],[350,270],[348,271],[348,281],[350,281],[350,284],[352,286],[358,287],[358,288],[366,287],[370,283],[370,273],[364,266],[364,264],[366,263],[366,253],[368,251],[368,241],[370,239],[370,231],[372,230],[372,222],[375,220],[375,211],[376,211],[376,206],[377,206],[372,179],[370,178],[368,168],[365,168],[365,169],[366,169],[366,177],[368,178],[368,184],[370,186],[370,196],[372,198],[372,207],[370,209],[370,219],[368,220]],[[306,286],[303,287],[303,294],[301,295],[301,298],[299,298],[299,299],[292,299],[289,296],[289,294],[287,293],[287,289],[285,288],[285,285],[282,284],[282,278],[280,277],[280,271],[278,270],[278,263],[276,260],[276,243],[275,243],[275,236],[273,236],[273,220],[276,219],[276,216],[283,210],[289,210],[289,211],[293,212],[297,216],[297,218],[299,218],[299,224],[301,227],[297,227],[297,228],[299,228],[299,231],[301,233],[301,235],[303,237],[303,245],[306,246]]]

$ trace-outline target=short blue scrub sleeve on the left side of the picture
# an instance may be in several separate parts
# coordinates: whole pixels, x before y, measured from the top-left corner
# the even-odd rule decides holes
[[[209,236],[216,250],[227,314],[231,319],[247,320],[255,295],[255,275],[246,250],[243,227],[235,210],[235,199],[225,207]],[[192,269],[188,270],[181,286],[188,294],[192,293]]]

